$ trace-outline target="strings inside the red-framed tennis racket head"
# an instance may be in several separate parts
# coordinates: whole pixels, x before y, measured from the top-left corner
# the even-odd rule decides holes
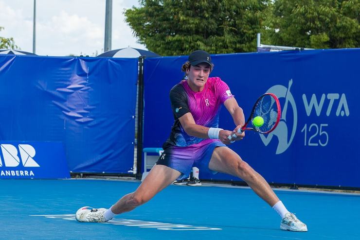
[[[271,95],[264,95],[256,104],[253,114],[253,118],[262,117],[264,124],[260,127],[254,126],[254,128],[262,133],[270,131],[275,126],[278,115],[279,109],[276,100]]]

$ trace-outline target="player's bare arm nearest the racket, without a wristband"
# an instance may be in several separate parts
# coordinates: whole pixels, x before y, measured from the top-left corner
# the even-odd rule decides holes
[[[245,137],[244,133],[237,133],[237,129],[242,127],[245,124],[245,116],[242,108],[239,106],[235,98],[229,98],[224,102],[226,109],[229,111],[230,115],[233,117],[235,123],[235,129],[233,133],[237,136],[236,140],[241,140]]]

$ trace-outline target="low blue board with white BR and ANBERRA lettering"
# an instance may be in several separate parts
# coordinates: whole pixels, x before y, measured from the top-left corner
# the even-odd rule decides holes
[[[70,178],[61,142],[0,142],[0,179]]]

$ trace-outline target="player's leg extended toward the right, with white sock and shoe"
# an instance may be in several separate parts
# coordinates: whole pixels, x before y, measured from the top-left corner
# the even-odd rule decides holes
[[[266,201],[282,218],[280,228],[289,231],[307,231],[306,224],[290,213],[279,200],[266,180],[243,161],[233,150],[227,147],[217,147],[210,159],[209,169],[224,172],[243,179],[252,190]]]

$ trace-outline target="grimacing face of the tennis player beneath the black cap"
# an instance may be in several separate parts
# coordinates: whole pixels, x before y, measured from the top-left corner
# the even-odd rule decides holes
[[[186,70],[189,76],[188,84],[193,91],[202,91],[209,78],[210,71],[210,66],[206,63],[190,66],[190,69]]]

